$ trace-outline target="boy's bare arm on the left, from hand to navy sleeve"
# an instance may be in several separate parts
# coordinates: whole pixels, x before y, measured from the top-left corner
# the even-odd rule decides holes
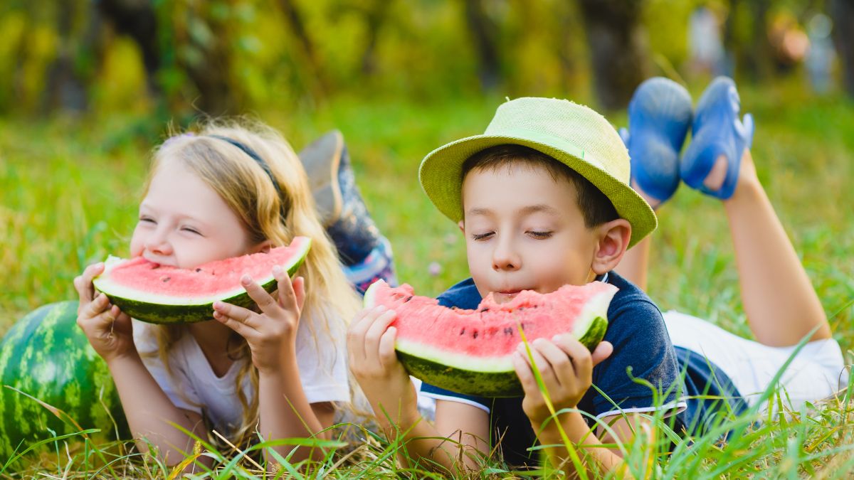
[[[365,310],[350,325],[350,370],[389,440],[401,442],[401,461],[456,472],[477,468],[486,454],[488,415],[453,401],[436,402],[436,425],[421,418],[415,387],[395,354],[395,313],[384,307]],[[399,436],[399,433],[400,436]],[[481,439],[478,441],[477,439]],[[424,460],[424,461],[421,461]]]

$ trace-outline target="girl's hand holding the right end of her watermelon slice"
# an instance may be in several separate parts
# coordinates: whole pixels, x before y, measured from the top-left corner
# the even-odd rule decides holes
[[[246,339],[259,373],[278,372],[283,360],[295,355],[296,327],[306,296],[302,277],[291,283],[288,272],[280,266],[273,267],[272,275],[278,281],[278,300],[249,275],[240,279],[260,313],[223,301],[213,303],[213,318]]]

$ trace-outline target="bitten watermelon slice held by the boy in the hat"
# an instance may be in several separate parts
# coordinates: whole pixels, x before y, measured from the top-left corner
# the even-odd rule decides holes
[[[466,395],[506,397],[523,395],[511,360],[522,341],[519,328],[528,342],[572,333],[592,351],[605,337],[616,293],[602,282],[564,285],[545,295],[524,290],[506,303],[489,295],[476,310],[464,310],[380,280],[365,292],[365,306],[395,310],[397,357],[412,376]]]

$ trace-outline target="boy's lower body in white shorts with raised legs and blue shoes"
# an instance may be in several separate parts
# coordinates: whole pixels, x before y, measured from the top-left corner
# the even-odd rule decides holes
[[[739,413],[760,401],[798,342],[812,332],[779,385],[787,407],[798,409],[845,388],[848,375],[822,303],[757,178],[749,149],[752,116],[742,121],[739,110],[732,79],[715,79],[697,104],[691,143],[680,159],[692,124],[691,97],[673,81],[649,79],[629,104],[631,133],[621,134],[632,162],[632,186],[652,208],[658,210],[681,180],[721,199],[727,214],[741,301],[756,341],[684,313],[664,313],[680,366],[687,365],[688,391],[709,385],[709,395],[727,398]],[[641,240],[617,268],[641,289],[646,289],[651,244],[650,237]],[[700,403],[688,408],[700,413],[688,420],[702,431],[713,419],[702,415],[715,407],[687,401]]]

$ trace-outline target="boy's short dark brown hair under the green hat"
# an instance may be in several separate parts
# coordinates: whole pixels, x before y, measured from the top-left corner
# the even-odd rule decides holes
[[[588,179],[551,156],[524,145],[496,145],[471,155],[463,163],[462,179],[465,181],[465,176],[472,170],[498,170],[515,165],[543,167],[555,181],[565,179],[570,182],[576,188],[576,203],[584,216],[584,225],[588,228],[620,218],[608,197]]]

